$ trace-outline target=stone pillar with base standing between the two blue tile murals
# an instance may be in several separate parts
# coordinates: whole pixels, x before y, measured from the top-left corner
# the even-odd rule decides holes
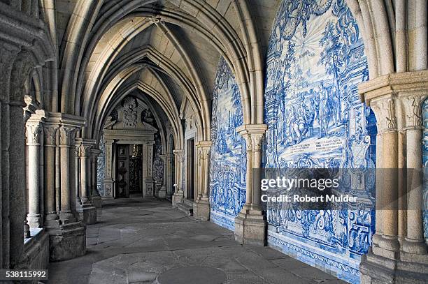
[[[245,205],[235,218],[235,239],[241,244],[266,245],[266,220],[260,209],[262,140],[267,126],[248,124],[236,128],[247,144]]]

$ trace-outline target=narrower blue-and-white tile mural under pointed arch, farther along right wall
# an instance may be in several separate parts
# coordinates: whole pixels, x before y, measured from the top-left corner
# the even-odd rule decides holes
[[[223,57],[217,67],[211,126],[210,219],[234,230],[245,204],[245,140],[236,132],[243,124],[241,93]]]

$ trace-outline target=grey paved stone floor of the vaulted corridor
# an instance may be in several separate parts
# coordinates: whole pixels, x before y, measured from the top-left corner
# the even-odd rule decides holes
[[[216,268],[231,284],[343,283],[271,248],[241,246],[233,232],[194,221],[166,201],[131,197],[104,202],[98,221],[87,226],[87,254],[51,263],[48,283],[157,283],[158,274],[168,279],[166,271],[178,267],[204,267],[207,273]],[[176,283],[185,282],[177,278],[161,284]],[[217,282],[203,284],[210,283]]]

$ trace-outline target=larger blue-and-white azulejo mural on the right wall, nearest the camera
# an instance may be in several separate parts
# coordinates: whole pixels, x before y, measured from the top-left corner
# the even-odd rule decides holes
[[[345,0],[284,0],[266,57],[266,168],[374,168],[376,119],[360,103],[369,80],[362,35]],[[368,192],[374,176],[349,184]],[[268,243],[350,283],[374,234],[374,210],[298,210],[267,205]]]

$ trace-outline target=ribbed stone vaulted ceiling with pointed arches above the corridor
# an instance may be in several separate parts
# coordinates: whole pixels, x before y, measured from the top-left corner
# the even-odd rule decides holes
[[[139,89],[162,108],[176,138],[183,135],[179,111],[185,100],[203,126],[201,137],[209,138],[215,70],[223,55],[246,88],[244,119],[254,121],[254,91],[243,82],[262,72],[278,5],[278,0],[55,1],[59,108],[85,117],[83,135],[96,138],[117,100]],[[255,41],[257,51],[248,48]]]

